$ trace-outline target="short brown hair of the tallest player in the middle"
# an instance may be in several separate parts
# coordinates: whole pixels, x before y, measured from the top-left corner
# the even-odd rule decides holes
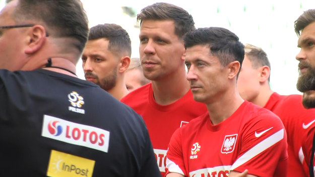
[[[195,30],[193,17],[184,9],[168,3],[155,3],[142,9],[137,15],[137,21],[141,25],[144,20],[173,20],[175,34],[179,39]]]

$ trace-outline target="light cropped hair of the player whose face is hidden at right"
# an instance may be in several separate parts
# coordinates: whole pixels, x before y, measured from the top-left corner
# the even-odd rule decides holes
[[[267,66],[271,70],[267,53],[261,47],[245,44],[244,49],[248,60],[251,62],[251,67],[257,69],[259,67]],[[270,81],[270,75],[268,81]]]

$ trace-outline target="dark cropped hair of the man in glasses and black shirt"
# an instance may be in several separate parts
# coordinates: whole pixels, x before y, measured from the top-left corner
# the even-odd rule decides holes
[[[88,39],[88,17],[79,0],[19,0],[13,19],[19,23],[37,20],[49,36],[77,39],[73,45],[80,52]]]

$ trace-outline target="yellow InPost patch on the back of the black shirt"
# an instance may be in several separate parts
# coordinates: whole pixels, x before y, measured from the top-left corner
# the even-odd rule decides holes
[[[51,150],[47,176],[91,177],[93,174],[94,164],[94,160]]]

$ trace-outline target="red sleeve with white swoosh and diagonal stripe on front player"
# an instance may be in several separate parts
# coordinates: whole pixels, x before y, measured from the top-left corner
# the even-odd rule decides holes
[[[287,139],[283,124],[270,111],[249,121],[241,136],[241,150],[231,170],[257,176],[286,176]]]

